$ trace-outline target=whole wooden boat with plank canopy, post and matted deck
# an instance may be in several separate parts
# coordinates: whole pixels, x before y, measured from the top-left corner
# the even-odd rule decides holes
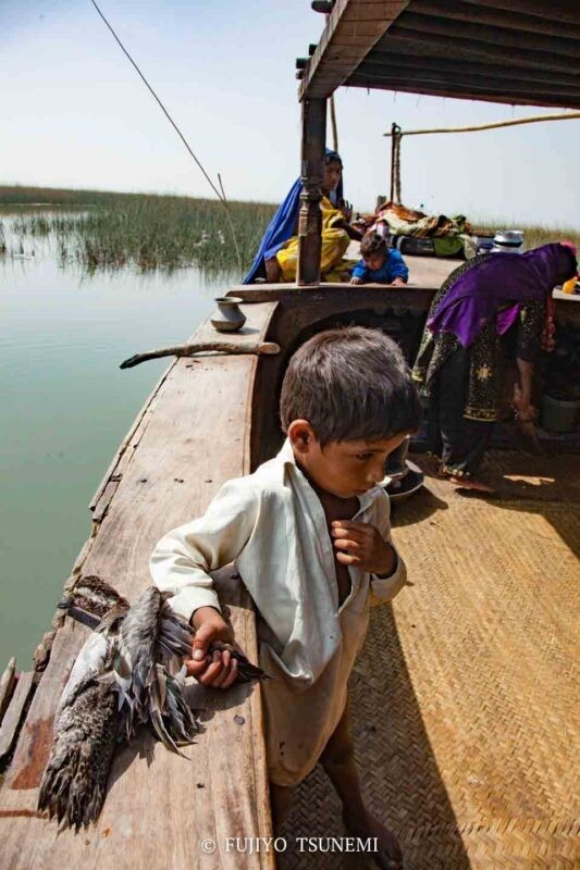
[[[403,51],[406,40],[403,53],[417,59],[433,16],[435,48],[455,40],[461,57],[480,58],[481,69],[457,84],[445,48],[435,52],[441,62],[433,62],[424,78],[420,64],[417,73],[406,64],[408,89],[580,104],[578,86],[558,87],[562,64],[529,57],[533,52],[525,47],[531,38],[550,40],[557,57],[560,40],[566,38],[569,49],[568,27],[576,27],[578,47],[580,21],[571,4],[553,3],[546,11],[533,0],[521,0],[517,10],[499,0],[338,0],[301,84],[299,284],[231,291],[243,297],[247,323],[229,340],[242,347],[275,341],[281,352],[210,353],[169,366],[91,501],[91,535],[67,586],[98,574],[135,598],[149,583],[148,559],[158,538],[201,513],[224,481],[273,455],[281,442],[281,378],[310,334],[336,322],[386,319],[404,341],[419,335],[434,289],[454,263],[411,259],[412,282],[405,288],[320,284],[316,229],[326,98],[341,84],[404,89],[399,72],[381,52],[391,39]],[[472,45],[480,21],[488,40],[493,33],[499,45],[511,45],[509,63],[514,70],[526,65],[525,83],[494,75],[495,47]],[[405,29],[407,37],[400,35]],[[558,299],[558,306],[569,314],[578,302]],[[208,321],[193,340],[214,338]],[[578,857],[571,798],[577,732],[566,685],[573,650],[569,584],[577,573],[572,551],[580,529],[578,457],[543,457],[533,468],[528,457],[493,461],[501,482],[497,504],[466,502],[430,480],[425,497],[398,514],[396,539],[415,585],[400,605],[373,617],[370,647],[353,681],[355,736],[363,749],[371,808],[400,832],[408,866],[425,870],[555,869],[572,867]],[[546,580],[548,566],[557,568]],[[215,582],[238,642],[256,660],[255,618],[239,577],[230,567]],[[34,671],[21,676],[12,695],[12,675],[3,682],[11,699],[0,730],[2,868],[237,869],[271,868],[276,860],[281,867],[329,866],[325,854],[297,852],[295,842],[298,835],[341,833],[318,772],[298,790],[288,855],[257,840],[272,835],[259,686],[227,693],[192,687],[206,732],[189,749],[190,760],[171,756],[144,734],[119,753],[98,824],[76,836],[57,835],[36,809],[38,784],[55,706],[86,634],[84,626],[57,617],[35,655]],[[569,739],[560,739],[559,729]]]

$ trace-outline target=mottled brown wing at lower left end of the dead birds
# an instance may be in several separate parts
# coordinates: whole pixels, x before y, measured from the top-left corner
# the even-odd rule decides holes
[[[38,794],[38,809],[76,831],[101,810],[119,729],[113,680],[77,684],[61,706],[50,758]]]

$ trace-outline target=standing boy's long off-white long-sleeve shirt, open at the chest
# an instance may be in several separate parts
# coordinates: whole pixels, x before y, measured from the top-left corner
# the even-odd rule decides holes
[[[391,542],[384,490],[374,487],[359,501],[353,519]],[[391,600],[405,584],[405,564],[397,556],[387,579],[350,566],[350,593],[338,606],[324,510],[287,440],[254,474],[224,484],[203,517],[165,535],[150,568],[157,586],[173,593],[173,609],[189,619],[199,607],[219,609],[208,572],[232,561],[261,617],[260,664],[276,678],[262,686],[270,778],[291,785],[316,765],[344,710],[371,596]]]

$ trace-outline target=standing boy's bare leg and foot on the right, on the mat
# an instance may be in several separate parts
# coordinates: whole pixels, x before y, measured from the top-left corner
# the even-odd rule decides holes
[[[354,836],[377,837],[373,858],[384,870],[400,870],[403,854],[395,834],[367,811],[355,766],[354,744],[348,721],[349,703],[328,742],[321,763],[343,801],[343,821]]]

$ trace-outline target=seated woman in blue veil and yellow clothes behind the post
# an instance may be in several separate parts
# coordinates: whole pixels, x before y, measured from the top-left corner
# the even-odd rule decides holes
[[[296,281],[298,264],[298,212],[300,210],[301,182],[298,178],[281,204],[258,249],[244,284],[257,278],[268,282]],[[322,250],[320,272],[323,281],[344,279],[345,269],[353,263],[343,260],[350,239],[361,234],[349,225],[351,210],[343,199],[343,162],[336,151],[326,149],[322,181]],[[346,275],[348,281],[348,275]]]

